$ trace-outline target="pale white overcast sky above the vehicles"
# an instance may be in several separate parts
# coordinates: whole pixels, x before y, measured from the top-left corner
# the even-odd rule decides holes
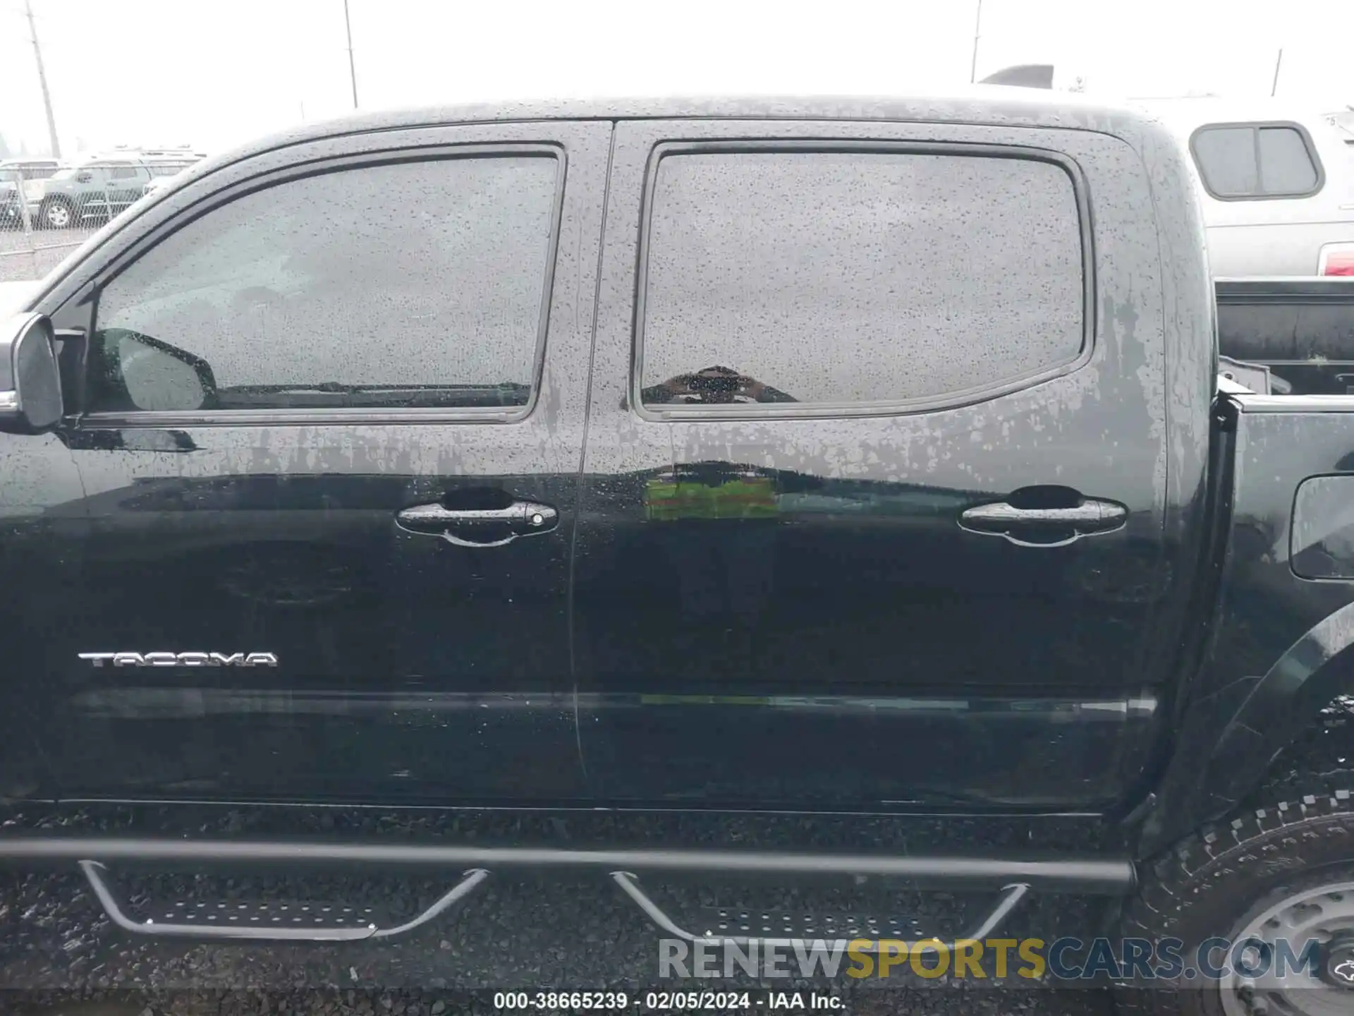
[[[343,0],[31,0],[64,154],[218,150],[352,108]],[[968,81],[976,0],[349,0],[363,108],[515,98],[904,93]],[[24,0],[0,0],[0,135],[47,146]],[[983,0],[978,76],[1106,95],[1354,103],[1354,0]]]

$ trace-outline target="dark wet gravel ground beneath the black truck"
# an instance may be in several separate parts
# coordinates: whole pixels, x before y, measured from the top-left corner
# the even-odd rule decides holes
[[[51,817],[14,814],[5,833],[43,828],[61,832],[135,834],[153,826],[161,834],[198,836],[292,834],[306,839],[455,837],[478,843],[701,843],[758,844],[787,848],[841,847],[867,849],[891,843],[904,849],[944,848],[944,841],[972,841],[969,822],[930,822],[918,829],[888,820],[830,820],[835,828],[814,828],[806,820],[691,820],[674,816],[616,818],[596,813],[521,817],[475,813],[429,817],[429,813],[313,811],[203,809],[200,813],[80,811]],[[819,826],[823,824],[819,822]],[[948,828],[953,825],[955,828]],[[982,832],[982,834],[987,834]],[[1007,848],[1066,841],[1068,829],[1011,829]],[[1105,845],[1099,845],[1105,848]],[[451,875],[456,878],[456,875]],[[187,899],[345,901],[387,909],[408,918],[440,895],[445,881],[417,872],[409,878],[286,871],[227,878],[225,874],[149,875],[131,870],[111,874],[130,908]],[[700,905],[814,913],[856,912],[864,890],[662,885],[645,886],[665,905],[693,913]],[[891,890],[868,897],[875,913],[911,916],[925,933],[945,933],[968,924],[969,906],[982,898],[918,895]],[[1094,918],[1089,901],[1045,897],[1011,923],[1011,935],[1053,937],[1076,931]],[[678,918],[680,920],[680,918]],[[0,1008],[31,1016],[227,1016],[233,1013],[357,1013],[360,1016],[440,1016],[493,1012],[494,989],[624,990],[642,998],[647,989],[746,989],[760,998],[768,990],[814,990],[838,994],[845,1012],[929,1013],[932,1016],[1108,1016],[1108,998],[1098,990],[1052,990],[1022,983],[995,988],[974,981],[659,981],[658,932],[603,874],[566,878],[492,876],[460,908],[425,933],[389,943],[341,946],[207,946],[130,939],[116,933],[70,872],[4,872],[0,875]],[[440,1005],[439,1005],[440,1004]],[[639,1011],[646,1011],[640,1007]],[[754,1009],[756,1011],[756,1005]]]

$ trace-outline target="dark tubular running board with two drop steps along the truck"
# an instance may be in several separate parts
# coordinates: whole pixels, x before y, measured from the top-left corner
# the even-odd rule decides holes
[[[0,837],[0,864],[74,862],[89,889],[115,925],[134,935],[192,939],[360,941],[389,939],[421,928],[468,897],[494,870],[581,868],[604,871],[663,932],[686,941],[714,946],[811,947],[819,937],[695,933],[677,924],[640,887],[638,871],[672,875],[779,875],[788,881],[852,876],[896,879],[923,889],[991,889],[997,898],[988,913],[963,939],[991,935],[1024,901],[1037,891],[1093,895],[1127,895],[1133,891],[1135,871],[1127,859],[1066,858],[1060,860],[1013,860],[953,856],[883,856],[833,853],[762,853],[743,851],[673,849],[558,849],[535,847],[456,847],[401,844],[344,844],[288,841],[211,841],[161,839],[65,839]],[[279,904],[176,901],[161,904],[142,920],[129,916],[104,878],[106,864],[162,863],[171,867],[202,866],[356,866],[359,868],[432,867],[462,872],[460,881],[428,909],[410,920],[380,925],[370,912],[355,905],[298,904],[283,913]],[[165,914],[156,920],[157,913]],[[190,916],[191,914],[191,916]],[[852,924],[826,927],[834,947],[857,941]],[[769,928],[764,928],[769,929]],[[788,925],[787,925],[787,929]],[[742,928],[739,928],[742,931]],[[750,928],[749,928],[750,931]],[[800,929],[796,929],[800,931]],[[802,929],[807,932],[808,929]],[[873,932],[868,925],[864,931]],[[841,932],[852,933],[842,939]],[[862,933],[881,948],[892,936]],[[932,940],[932,939],[923,939]]]

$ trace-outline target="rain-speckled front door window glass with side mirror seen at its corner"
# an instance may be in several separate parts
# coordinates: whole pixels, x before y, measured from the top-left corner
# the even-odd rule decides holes
[[[173,351],[210,368],[203,408],[524,405],[555,168],[544,156],[363,167],[207,213],[100,295],[96,408],[150,408],[125,366],[191,381],[146,366]],[[192,391],[162,389],[158,406],[195,408]]]

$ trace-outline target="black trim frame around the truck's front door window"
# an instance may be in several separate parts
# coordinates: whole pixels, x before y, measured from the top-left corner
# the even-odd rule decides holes
[[[196,222],[199,218],[211,214],[219,207],[257,191],[264,191],[292,180],[303,180],[311,176],[345,172],[378,165],[401,165],[405,163],[433,163],[464,158],[512,158],[538,157],[551,158],[555,164],[555,192],[550,211],[550,240],[546,247],[546,274],[543,276],[543,291],[538,314],[536,344],[532,351],[531,366],[531,396],[520,406],[505,406],[502,409],[489,409],[485,406],[408,406],[408,408],[376,408],[376,406],[333,406],[326,409],[199,409],[181,412],[172,409],[138,409],[138,410],[89,410],[88,406],[88,379],[95,370],[93,343],[99,322],[99,301],[104,289],[114,282],[123,271],[130,268],[150,249],[168,240],[184,226]],[[540,401],[540,386],[544,377],[546,364],[546,336],[550,331],[550,309],[552,303],[555,266],[558,261],[561,218],[565,202],[565,180],[567,176],[567,152],[556,142],[466,142],[466,144],[437,144],[417,148],[393,148],[376,152],[347,153],[324,156],[298,161],[287,167],[272,169],[245,180],[222,187],[200,200],[190,205],[173,218],[156,226],[146,236],[139,237],[125,251],[121,251],[111,261],[104,264],[99,272],[83,289],[88,293],[85,299],[89,308],[89,341],[88,352],[83,358],[81,370],[81,405],[80,421],[95,427],[283,427],[283,425],[364,425],[364,424],[428,424],[428,423],[521,423],[527,420]]]

